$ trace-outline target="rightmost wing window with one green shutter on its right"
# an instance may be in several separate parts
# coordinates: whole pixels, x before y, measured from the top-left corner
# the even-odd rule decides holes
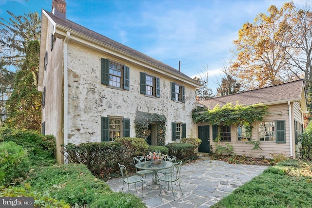
[[[285,120],[259,122],[258,134],[260,141],[276,141],[286,143]]]

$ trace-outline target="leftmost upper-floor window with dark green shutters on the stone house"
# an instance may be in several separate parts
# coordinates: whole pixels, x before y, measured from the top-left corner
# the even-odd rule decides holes
[[[101,58],[101,83],[116,88],[129,90],[129,67]]]

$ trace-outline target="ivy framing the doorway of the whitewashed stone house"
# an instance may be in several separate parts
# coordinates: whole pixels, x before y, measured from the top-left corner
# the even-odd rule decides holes
[[[137,111],[135,118],[136,137],[147,141],[147,137],[151,134],[148,130],[150,123],[154,123],[157,126],[157,145],[165,146],[167,119],[164,115]]]

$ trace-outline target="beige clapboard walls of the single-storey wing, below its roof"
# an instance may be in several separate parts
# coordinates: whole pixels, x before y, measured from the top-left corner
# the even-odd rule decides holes
[[[217,145],[226,147],[227,143],[233,146],[235,154],[251,157],[273,158],[278,155],[295,158],[297,154],[297,138],[302,132],[303,112],[299,102],[282,103],[268,106],[268,115],[262,121],[253,123],[252,136],[246,134],[243,125],[215,127],[210,125],[210,138],[213,150]],[[220,128],[221,141],[213,142],[213,138]],[[250,140],[260,141],[261,149]]]

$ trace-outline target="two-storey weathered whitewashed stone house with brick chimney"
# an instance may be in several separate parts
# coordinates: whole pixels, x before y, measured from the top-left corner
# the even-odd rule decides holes
[[[62,145],[136,137],[138,116],[150,116],[141,132],[150,145],[197,135],[197,81],[66,19],[65,0],[53,0],[41,18],[42,133],[55,135],[58,163],[66,162]]]

